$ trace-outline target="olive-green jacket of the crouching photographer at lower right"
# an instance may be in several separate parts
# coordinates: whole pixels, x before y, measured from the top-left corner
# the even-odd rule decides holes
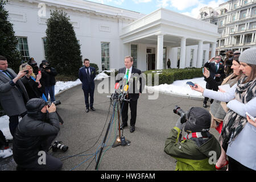
[[[177,160],[175,171],[214,171],[215,165],[209,164],[212,152],[216,152],[216,160],[220,158],[221,147],[217,139],[211,135],[207,140],[202,138],[178,141],[181,130],[174,127],[167,138],[164,152]]]

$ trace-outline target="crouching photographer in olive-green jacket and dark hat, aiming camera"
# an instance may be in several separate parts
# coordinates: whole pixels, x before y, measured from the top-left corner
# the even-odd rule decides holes
[[[179,114],[176,126],[167,138],[164,152],[177,160],[176,171],[215,171],[216,160],[220,157],[221,147],[217,139],[209,133],[211,116],[201,107],[191,107],[187,113],[176,106],[174,113]],[[187,133],[181,140],[181,133]],[[209,159],[215,157],[215,161]]]

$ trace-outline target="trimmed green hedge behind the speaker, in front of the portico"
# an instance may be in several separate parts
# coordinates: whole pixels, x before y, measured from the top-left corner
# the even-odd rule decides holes
[[[202,68],[184,68],[184,69],[162,69],[150,70],[144,72],[147,81],[146,85],[156,86],[160,84],[172,84],[176,80],[187,80],[196,77],[203,77]],[[151,74],[151,76],[150,76]],[[155,75],[159,76],[159,84],[155,84]]]

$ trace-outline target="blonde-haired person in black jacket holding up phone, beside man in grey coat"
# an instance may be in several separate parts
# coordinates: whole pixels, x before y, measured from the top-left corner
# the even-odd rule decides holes
[[[35,76],[33,68],[27,63],[20,65],[19,70],[28,70],[27,75],[21,78],[21,81],[27,90],[28,97],[30,99],[43,98],[45,101],[47,101],[43,94],[42,85],[39,82],[42,77],[41,73],[38,73],[38,75]]]

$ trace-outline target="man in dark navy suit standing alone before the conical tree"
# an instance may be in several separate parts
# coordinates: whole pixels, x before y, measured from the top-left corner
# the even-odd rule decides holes
[[[82,90],[84,90],[86,113],[89,112],[89,106],[91,110],[95,111],[93,107],[95,77],[96,77],[96,69],[93,67],[90,67],[89,59],[84,59],[84,67],[79,69],[79,79],[82,82]],[[90,94],[90,103],[89,103],[89,94]]]

